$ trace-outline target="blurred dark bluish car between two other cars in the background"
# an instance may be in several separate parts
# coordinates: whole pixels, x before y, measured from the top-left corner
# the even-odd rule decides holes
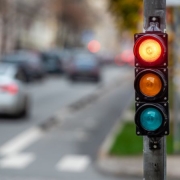
[[[71,58],[70,51],[62,49],[53,49],[42,52],[41,58],[47,73],[59,74],[66,69],[66,63]]]

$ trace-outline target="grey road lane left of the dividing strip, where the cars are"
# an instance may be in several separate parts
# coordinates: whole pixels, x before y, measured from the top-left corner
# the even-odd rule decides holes
[[[1,117],[0,134],[2,136],[0,136],[0,144],[4,144],[11,137],[32,126],[47,121],[60,109],[92,94],[99,88],[103,89],[103,86],[113,83],[114,79],[123,79],[124,76],[128,75],[128,72],[129,69],[127,68],[105,67],[103,69],[103,80],[100,84],[91,82],[71,83],[65,77],[50,77],[44,82],[29,84],[27,88],[32,97],[30,117],[19,119]]]

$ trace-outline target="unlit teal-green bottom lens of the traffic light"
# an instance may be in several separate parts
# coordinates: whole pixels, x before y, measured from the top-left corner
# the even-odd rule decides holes
[[[140,115],[142,128],[147,131],[157,130],[163,122],[162,114],[156,108],[146,108]]]

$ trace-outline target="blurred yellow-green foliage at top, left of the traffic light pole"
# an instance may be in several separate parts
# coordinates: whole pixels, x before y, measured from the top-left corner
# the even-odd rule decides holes
[[[109,0],[109,10],[116,17],[119,29],[136,31],[141,21],[142,0]]]

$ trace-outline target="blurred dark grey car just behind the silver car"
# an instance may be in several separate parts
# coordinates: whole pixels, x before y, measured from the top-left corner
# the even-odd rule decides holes
[[[22,69],[25,74],[25,81],[42,79],[45,75],[44,66],[40,56],[31,51],[16,51],[4,55],[1,62],[14,64]]]

